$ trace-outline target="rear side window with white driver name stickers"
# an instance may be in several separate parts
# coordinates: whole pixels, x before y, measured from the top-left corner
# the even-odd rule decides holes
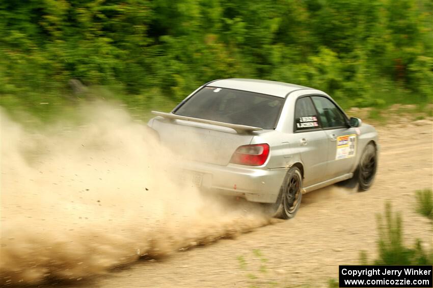
[[[296,101],[294,118],[295,131],[319,128],[317,112],[310,97],[303,97]]]

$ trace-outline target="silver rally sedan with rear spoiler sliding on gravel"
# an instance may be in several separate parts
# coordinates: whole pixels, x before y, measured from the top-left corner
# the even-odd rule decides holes
[[[352,179],[368,189],[377,132],[348,118],[325,92],[282,82],[215,80],[148,125],[183,155],[182,177],[200,189],[264,203],[291,218],[302,194]]]

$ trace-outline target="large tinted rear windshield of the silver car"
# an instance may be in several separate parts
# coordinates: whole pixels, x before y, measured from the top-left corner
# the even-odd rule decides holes
[[[174,114],[274,129],[284,98],[219,87],[204,87]]]

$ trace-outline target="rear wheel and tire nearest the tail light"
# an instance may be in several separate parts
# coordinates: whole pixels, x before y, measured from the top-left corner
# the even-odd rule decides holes
[[[290,219],[296,215],[302,200],[302,175],[297,167],[292,167],[287,172],[281,185],[277,202],[270,204],[270,213],[273,217]]]

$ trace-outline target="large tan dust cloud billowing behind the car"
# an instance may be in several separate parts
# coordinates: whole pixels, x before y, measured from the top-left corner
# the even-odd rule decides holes
[[[38,129],[0,115],[0,285],[85,280],[271,221],[179,184],[178,155],[113,106]]]

